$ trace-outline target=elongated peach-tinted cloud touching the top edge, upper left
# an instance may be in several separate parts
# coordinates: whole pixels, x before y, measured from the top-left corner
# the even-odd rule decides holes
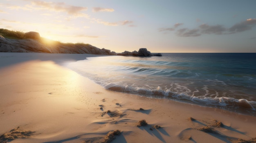
[[[32,1],[32,5],[38,6],[35,9],[48,9],[52,11],[64,11],[70,15],[79,14],[81,11],[86,11],[87,7],[77,7],[73,5],[68,5],[65,2],[44,2],[44,1]]]

